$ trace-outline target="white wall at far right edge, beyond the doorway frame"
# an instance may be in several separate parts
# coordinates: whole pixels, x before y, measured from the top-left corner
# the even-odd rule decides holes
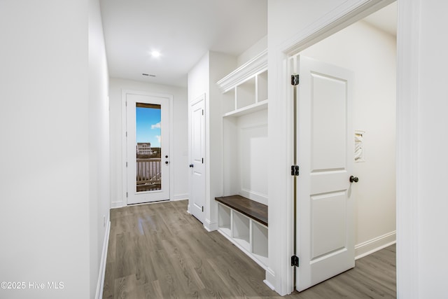
[[[417,230],[409,231],[418,236],[418,260],[414,260],[418,270],[412,272],[412,276],[416,275],[418,281],[418,298],[443,298],[447,296],[448,280],[448,262],[445,257],[448,239],[444,237],[448,228],[448,196],[444,190],[448,181],[448,40],[443,33],[444,28],[448,27],[448,4],[444,1],[425,0],[419,1],[419,6],[419,55],[418,60],[412,61],[419,68],[418,112],[417,118],[412,119],[416,122],[417,131],[407,132],[414,134],[419,144],[416,148],[418,160],[414,161],[418,174],[417,186],[411,189],[416,188],[418,194],[418,218],[412,220],[416,222]],[[406,148],[402,150],[409,151]],[[405,250],[407,249],[402,248],[402,251]],[[407,263],[400,266],[398,271],[401,274],[409,267]],[[401,287],[406,287],[399,286],[398,291]]]

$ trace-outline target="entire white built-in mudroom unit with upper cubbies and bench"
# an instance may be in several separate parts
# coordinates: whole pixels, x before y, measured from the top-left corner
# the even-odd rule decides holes
[[[267,77],[264,51],[217,83],[223,93],[223,197],[216,199],[218,231],[265,269]]]

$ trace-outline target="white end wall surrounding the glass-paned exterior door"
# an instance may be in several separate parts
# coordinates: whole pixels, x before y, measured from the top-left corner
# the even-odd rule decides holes
[[[123,207],[123,128],[122,90],[138,90],[173,95],[173,157],[170,159],[173,172],[174,194],[172,200],[188,198],[188,99],[186,88],[169,85],[110,78],[109,97],[111,102],[111,200],[112,207]]]

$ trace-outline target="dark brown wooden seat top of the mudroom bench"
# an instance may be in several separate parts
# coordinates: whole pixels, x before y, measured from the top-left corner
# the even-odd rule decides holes
[[[248,198],[240,195],[216,197],[215,200],[267,226],[266,204],[260,204],[260,202],[249,200]]]

